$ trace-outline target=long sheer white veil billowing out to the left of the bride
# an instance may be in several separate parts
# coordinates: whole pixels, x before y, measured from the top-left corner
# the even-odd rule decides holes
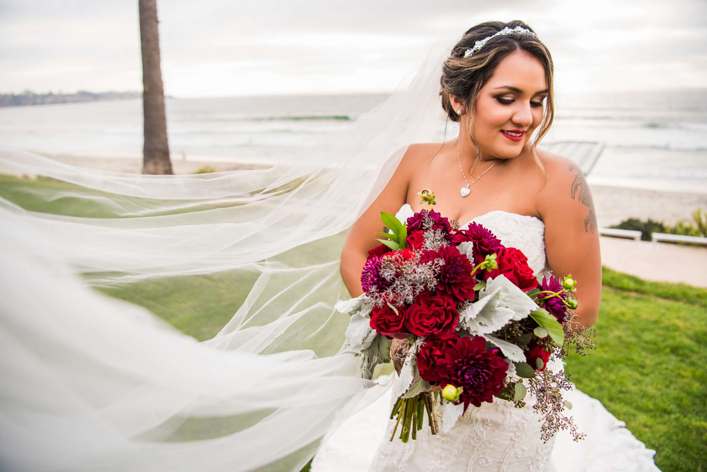
[[[438,96],[457,39],[267,170],[132,175],[0,146],[0,468],[298,471],[383,394],[337,355],[341,244],[410,143],[457,133]]]

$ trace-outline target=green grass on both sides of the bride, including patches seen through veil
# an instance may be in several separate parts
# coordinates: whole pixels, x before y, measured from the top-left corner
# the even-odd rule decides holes
[[[32,211],[115,218],[121,207],[142,204],[131,198],[103,205],[97,199],[100,192],[87,190],[82,192],[92,199],[70,196],[45,202],[40,197],[67,187],[76,189],[53,179],[0,175],[0,196]],[[306,252],[307,258],[315,257],[337,250],[341,242],[342,235],[334,235],[291,256]],[[144,305],[186,334],[204,340],[230,319],[256,276],[215,275],[99,290]],[[655,449],[655,463],[662,471],[707,472],[707,290],[644,281],[606,268],[603,285],[600,315],[593,326],[597,350],[585,358],[571,356],[568,372],[573,382]]]

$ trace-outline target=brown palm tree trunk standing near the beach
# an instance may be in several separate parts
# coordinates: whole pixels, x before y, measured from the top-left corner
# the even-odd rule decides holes
[[[142,173],[172,174],[170,148],[167,144],[165,93],[160,70],[157,0],[139,0],[139,10],[145,134]]]

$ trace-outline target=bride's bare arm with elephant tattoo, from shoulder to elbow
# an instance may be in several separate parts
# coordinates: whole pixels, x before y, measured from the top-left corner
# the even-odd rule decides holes
[[[602,297],[599,228],[587,179],[578,165],[555,155],[546,160],[547,183],[539,191],[538,210],[545,222],[547,264],[557,277],[577,281],[573,295],[583,326],[597,321]]]

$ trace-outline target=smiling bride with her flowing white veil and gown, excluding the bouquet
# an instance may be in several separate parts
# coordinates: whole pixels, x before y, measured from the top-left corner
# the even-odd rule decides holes
[[[520,21],[471,28],[451,57],[449,45],[268,169],[132,175],[0,146],[0,468],[298,472],[320,452],[312,465],[327,471],[341,454],[374,471],[549,469],[532,413],[501,401],[448,435],[386,442],[370,408],[390,411],[383,394],[400,386],[361,378],[339,352],[349,320],[334,304],[361,293],[378,213],[404,218],[425,187],[436,210],[483,223],[538,273],[572,273],[583,322],[597,317],[589,188],[535,148],[553,115],[547,48]],[[449,119],[458,138],[430,143]],[[575,468],[655,470],[598,402],[572,401],[595,441],[562,449]],[[354,437],[373,439],[375,458]]]

